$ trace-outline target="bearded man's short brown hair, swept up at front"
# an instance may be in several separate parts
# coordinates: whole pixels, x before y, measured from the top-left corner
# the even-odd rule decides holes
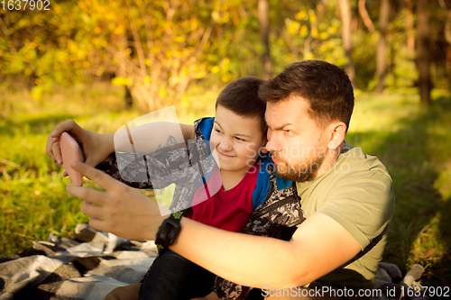
[[[333,121],[349,127],[354,109],[354,90],[342,68],[322,60],[303,60],[291,64],[280,75],[265,82],[259,95],[266,103],[300,96],[308,101],[309,116],[325,128]]]

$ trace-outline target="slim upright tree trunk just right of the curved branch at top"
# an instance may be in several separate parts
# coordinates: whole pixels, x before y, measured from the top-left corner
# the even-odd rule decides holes
[[[381,11],[379,14],[379,32],[381,37],[377,45],[376,51],[376,75],[379,82],[376,87],[376,92],[382,94],[385,87],[385,75],[387,73],[387,58],[386,58],[386,44],[387,44],[387,26],[389,24],[390,15],[390,0],[382,0]]]

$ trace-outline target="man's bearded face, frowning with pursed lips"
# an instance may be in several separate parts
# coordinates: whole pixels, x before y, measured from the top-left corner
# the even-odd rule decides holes
[[[317,177],[327,151],[328,137],[308,115],[309,104],[291,96],[266,107],[268,142],[276,173],[291,181],[303,182]]]

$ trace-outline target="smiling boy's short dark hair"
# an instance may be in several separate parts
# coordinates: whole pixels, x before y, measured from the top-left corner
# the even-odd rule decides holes
[[[262,121],[263,133],[266,134],[267,127],[264,122],[266,103],[258,94],[263,82],[264,80],[252,76],[232,81],[217,96],[215,108],[221,105],[243,117],[258,117]]]

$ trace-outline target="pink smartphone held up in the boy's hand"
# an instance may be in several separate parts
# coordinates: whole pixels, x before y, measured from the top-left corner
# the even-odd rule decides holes
[[[62,168],[68,172],[70,179],[76,186],[82,186],[83,179],[81,174],[70,167],[72,161],[83,162],[83,152],[78,142],[70,136],[68,132],[62,132],[60,136],[60,150],[62,156]]]

